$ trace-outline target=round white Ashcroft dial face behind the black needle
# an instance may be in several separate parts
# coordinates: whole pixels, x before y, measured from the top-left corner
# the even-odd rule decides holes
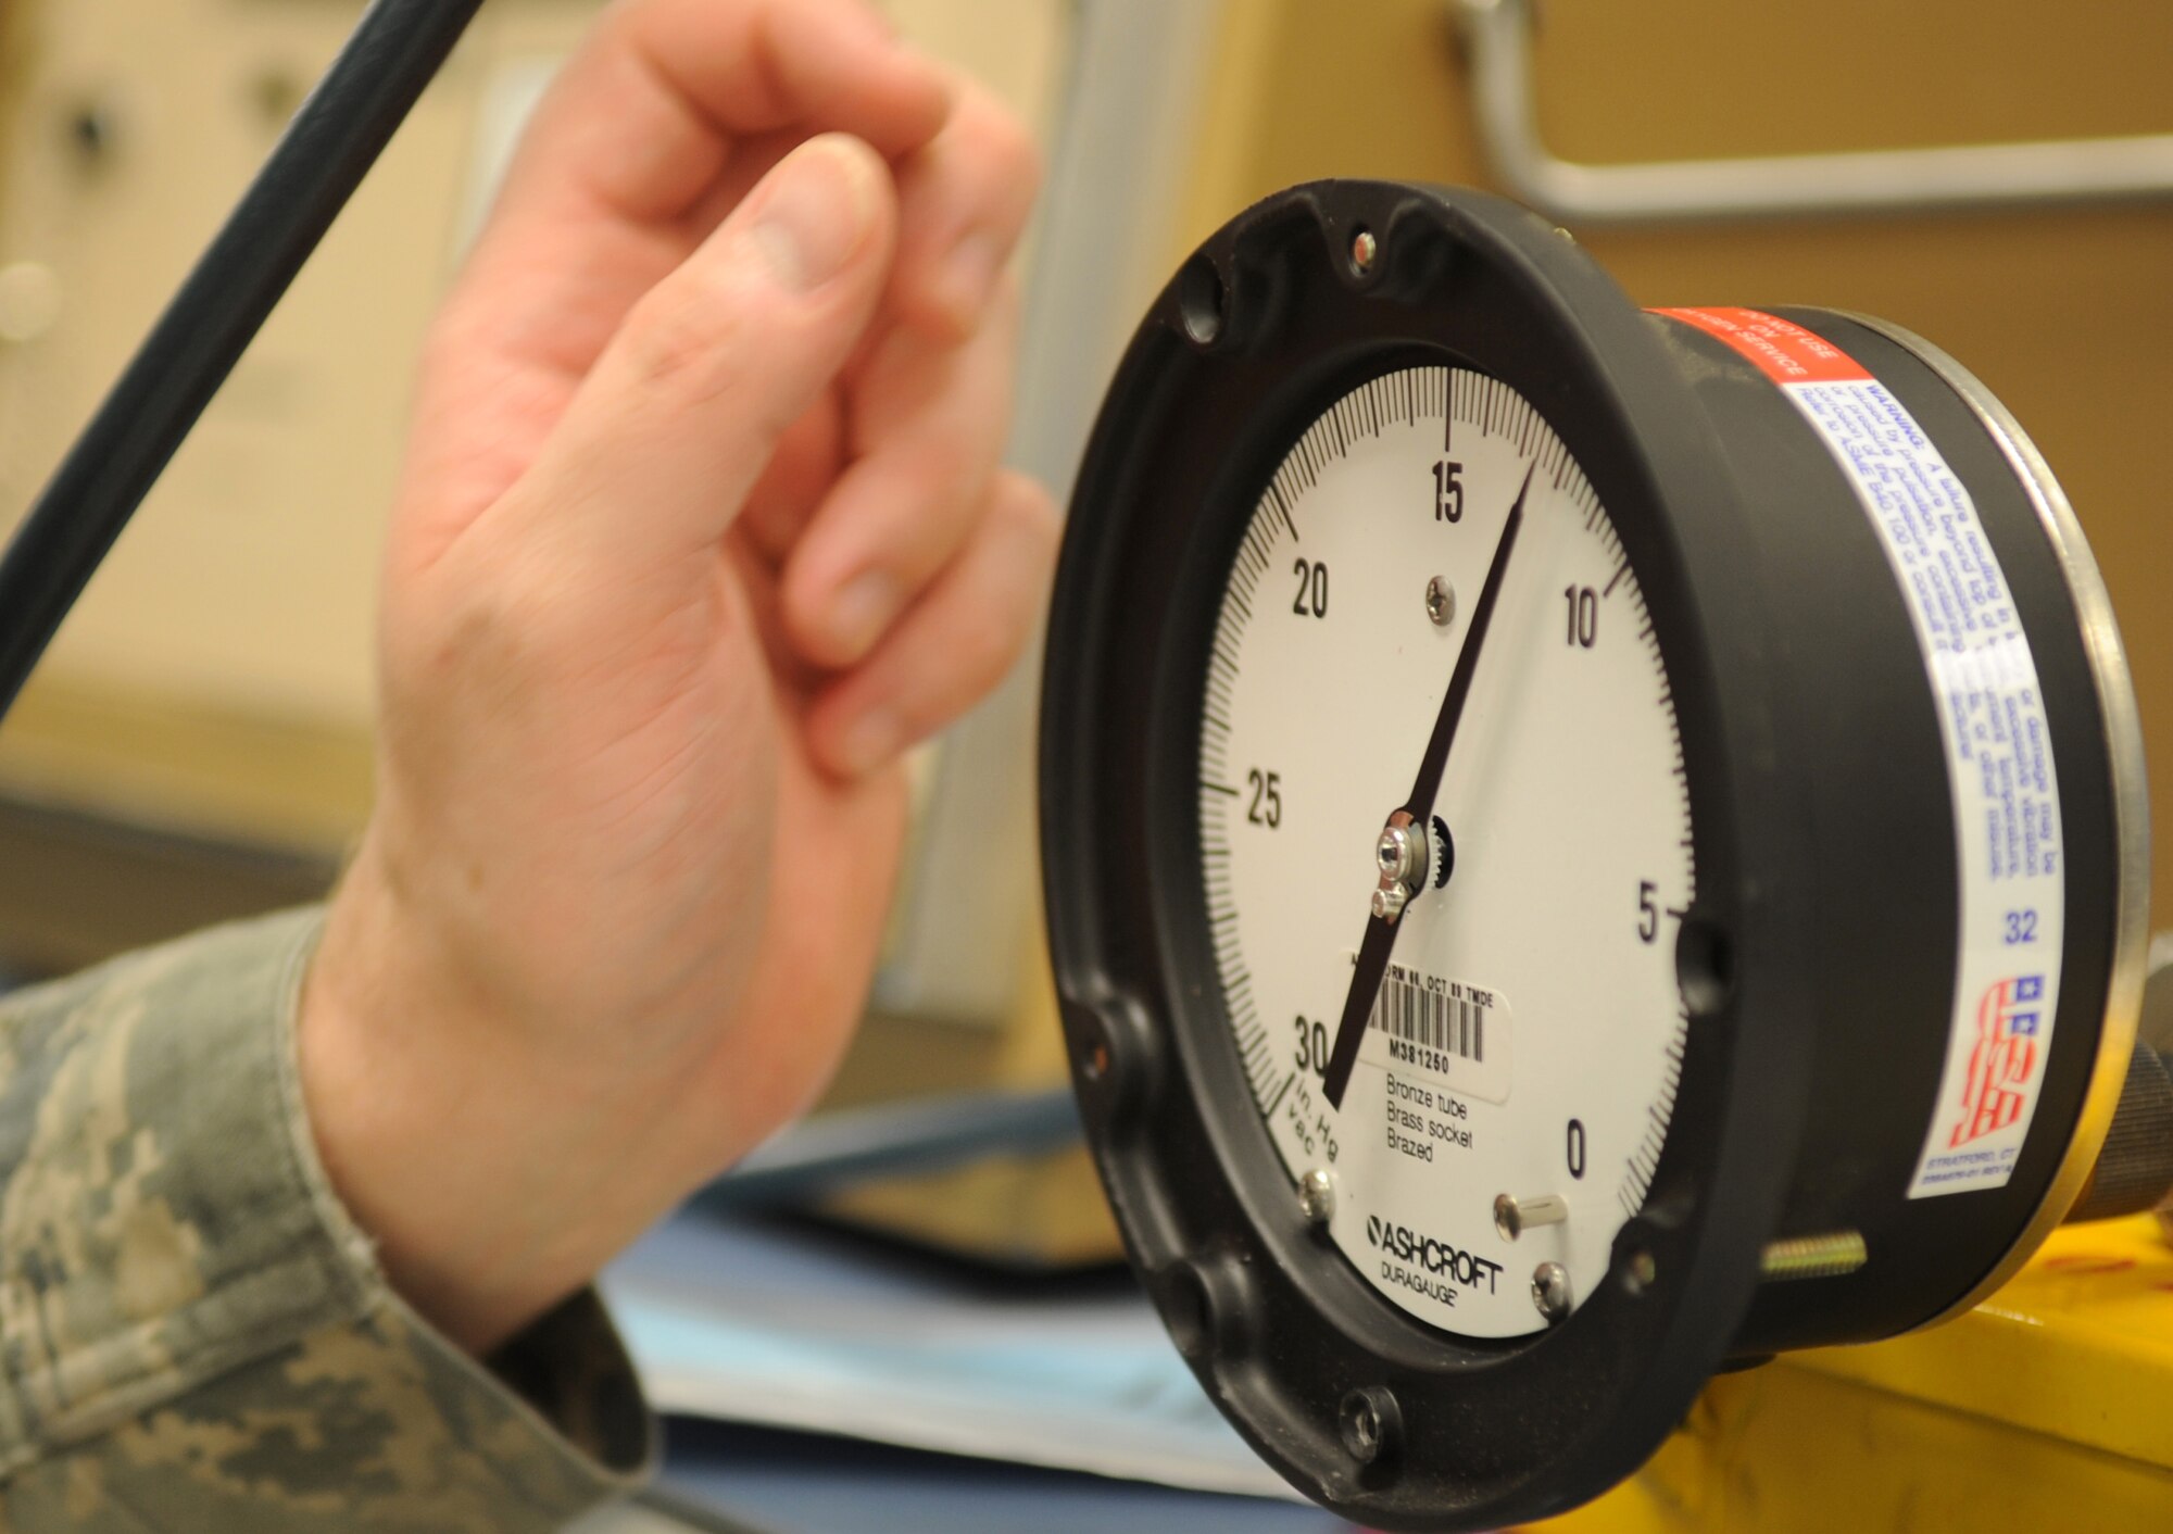
[[[1434,865],[1397,917],[1339,1110],[1323,1071],[1376,847],[1412,797],[1519,491],[1425,826]],[[1326,1180],[1332,1241],[1384,1297],[1462,1336],[1569,1315],[1667,1139],[1695,869],[1636,574],[1515,389],[1389,374],[1280,465],[1208,661],[1199,841],[1236,1049],[1293,1184]]]

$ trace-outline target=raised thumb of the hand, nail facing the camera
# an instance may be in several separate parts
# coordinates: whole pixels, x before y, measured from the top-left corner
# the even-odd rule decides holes
[[[802,143],[635,304],[513,515],[621,567],[713,550],[858,345],[895,239],[882,159],[845,135]]]

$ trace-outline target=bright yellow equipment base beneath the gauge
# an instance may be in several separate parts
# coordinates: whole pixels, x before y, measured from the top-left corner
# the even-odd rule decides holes
[[[1949,1325],[1714,1380],[1547,1534],[2173,1532],[2173,1245],[2060,1230]]]

